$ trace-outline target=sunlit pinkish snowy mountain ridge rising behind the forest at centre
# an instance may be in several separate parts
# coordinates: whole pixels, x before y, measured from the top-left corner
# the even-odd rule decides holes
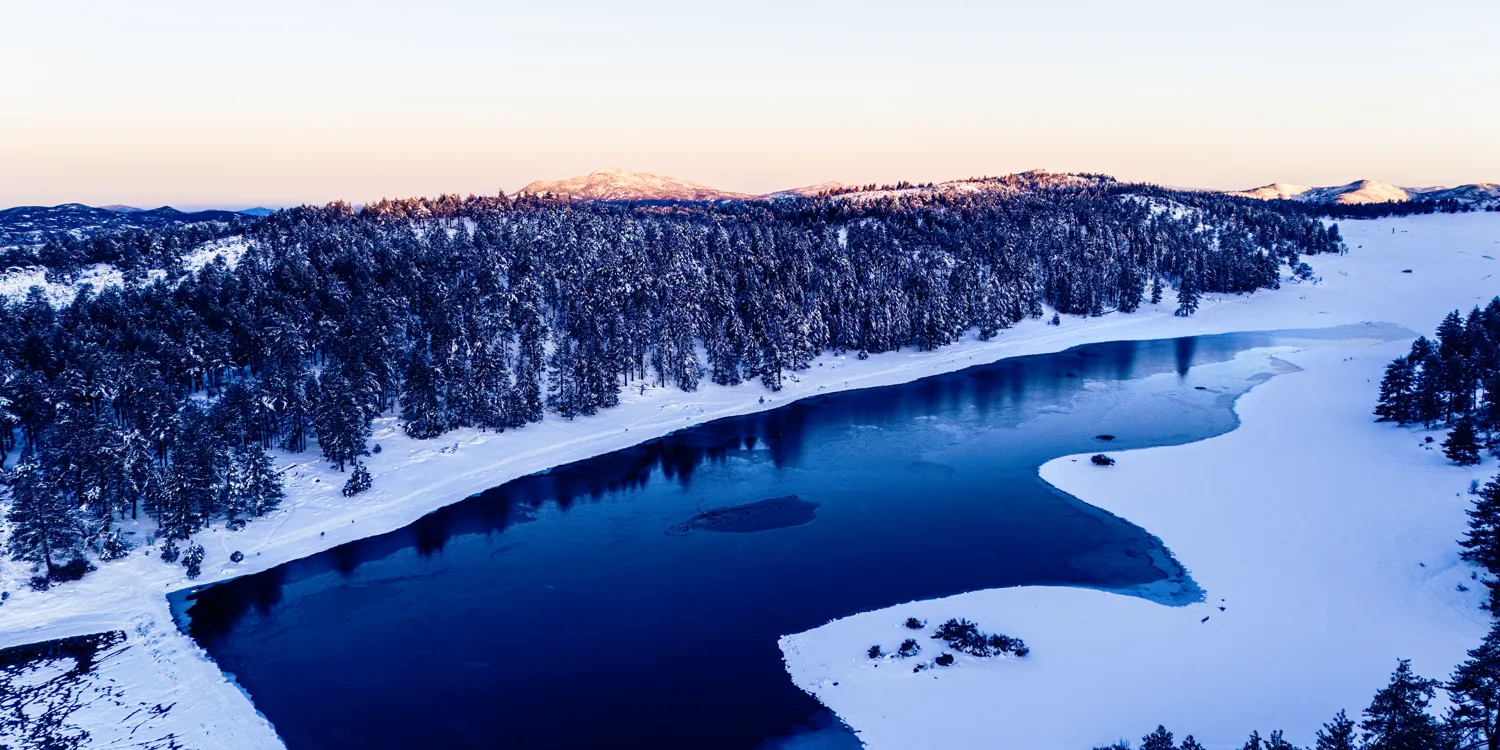
[[[1047,188],[1082,188],[1088,184],[1098,184],[1101,182],[1113,182],[1113,178],[1032,170],[1029,172],[1008,174],[1004,177],[968,177],[963,180],[927,184],[912,184],[904,182],[897,184],[852,184],[826,182],[792,188],[788,190],[776,190],[765,195],[748,195],[720,190],[708,188],[706,184],[698,184],[660,174],[606,168],[567,180],[537,180],[522,188],[520,194],[546,194],[579,201],[744,201],[820,196],[864,201],[897,195],[1026,192]]]

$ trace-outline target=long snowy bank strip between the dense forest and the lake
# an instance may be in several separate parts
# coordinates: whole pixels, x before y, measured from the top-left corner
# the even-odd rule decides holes
[[[867,360],[820,357],[812,369],[789,380],[780,393],[753,384],[705,384],[694,393],[670,388],[630,392],[621,406],[596,417],[574,422],[549,417],[540,424],[498,435],[456,430],[434,441],[411,441],[399,434],[392,418],[382,418],[374,436],[382,452],[369,460],[375,476],[370,492],[356,500],[344,498],[339,495],[342,476],[316,456],[279,454],[279,462],[296,462],[288,474],[284,510],[252,522],[240,532],[216,528],[195,537],[207,549],[200,580],[189,582],[182,567],[165,566],[136,552],[128,560],[102,564],[81,582],[50,592],[30,592],[18,585],[24,574],[18,566],[0,564],[0,586],[12,591],[10,600],[0,606],[0,646],[114,628],[141,640],[154,639],[150,640],[154,648],[135,650],[135,656],[112,662],[110,669],[123,684],[141,686],[142,692],[164,700],[190,696],[188,711],[172,720],[186,746],[192,747],[200,738],[202,747],[279,747],[270,724],[254,712],[243,693],[219,674],[196,644],[171,626],[166,592],[266,570],[344,542],[392,531],[430,510],[519,476],[819,393],[906,382],[1005,357],[1102,340],[1329,327],[1376,320],[1428,330],[1443,312],[1455,306],[1467,308],[1484,297],[1484,290],[1500,288],[1479,279],[1496,266],[1485,255],[1500,252],[1497,214],[1419,216],[1346,224],[1342,228],[1352,254],[1310,261],[1322,276],[1320,284],[1288,284],[1282,290],[1254,296],[1208,297],[1192,318],[1172,316],[1168,300],[1132,315],[1068,318],[1060,327],[1026,321],[990,342],[970,336],[933,352],[894,352]],[[1383,234],[1390,230],[1396,232]],[[1436,243],[1444,246],[1428,250]],[[1402,274],[1408,267],[1414,273]],[[1389,298],[1390,294],[1398,298]],[[1156,532],[1149,524],[1142,525]],[[244,552],[243,564],[228,562],[234,550]],[[1184,562],[1194,567],[1191,561]],[[170,675],[170,680],[160,680],[160,675]],[[834,708],[838,710],[837,705]],[[100,714],[99,722],[104,726],[108,717]],[[854,723],[866,729],[858,720]],[[210,738],[212,742],[204,744]]]

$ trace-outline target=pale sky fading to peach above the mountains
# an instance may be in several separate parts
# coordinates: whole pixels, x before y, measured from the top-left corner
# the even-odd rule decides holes
[[[1500,3],[0,0],[0,207],[1500,182]]]

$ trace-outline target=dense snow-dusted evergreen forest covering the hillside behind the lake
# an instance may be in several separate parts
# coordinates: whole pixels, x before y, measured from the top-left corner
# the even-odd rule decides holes
[[[230,236],[237,264],[178,273]],[[0,303],[8,544],[46,586],[124,555],[118,519],[154,519],[174,561],[204,525],[274,508],[272,448],[321,452],[356,495],[380,414],[434,438],[594,414],[627,387],[776,390],[824,351],[988,339],[1044,306],[1131,312],[1176,290],[1191,315],[1204,292],[1275,288],[1310,272],[1300,255],[1344,246],[1296,206],[1098,180],[874,201],[334,202],[8,252],[57,280],[93,262],[124,274],[57,308],[40,288]]]

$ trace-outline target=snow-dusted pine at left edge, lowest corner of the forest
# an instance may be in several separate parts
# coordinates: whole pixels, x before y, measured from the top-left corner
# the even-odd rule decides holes
[[[44,566],[51,579],[63,558],[76,555],[82,544],[78,507],[46,480],[30,458],[10,470],[9,483],[10,512],[6,520],[10,522],[10,558]]]

